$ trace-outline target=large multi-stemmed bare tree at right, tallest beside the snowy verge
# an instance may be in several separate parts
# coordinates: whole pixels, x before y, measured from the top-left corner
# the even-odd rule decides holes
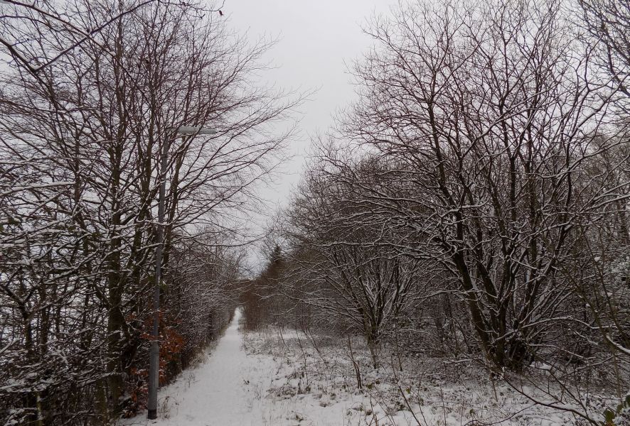
[[[362,97],[342,128],[405,164],[413,207],[367,205],[409,224],[415,251],[457,278],[498,367],[535,356],[540,318],[560,315],[569,290],[556,272],[575,226],[623,197],[604,186],[580,197],[584,161],[609,148],[592,135],[614,94],[582,78],[590,50],[571,31],[553,2],[402,9],[374,23],[381,49],[356,67]]]

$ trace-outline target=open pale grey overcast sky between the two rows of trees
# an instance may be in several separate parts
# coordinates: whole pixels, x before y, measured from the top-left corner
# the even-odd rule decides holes
[[[277,67],[265,73],[272,84],[287,89],[319,89],[301,108],[300,134],[292,141],[296,157],[287,173],[267,190],[267,198],[284,206],[298,181],[309,150],[309,138],[324,133],[331,116],[353,99],[353,87],[344,63],[351,63],[369,48],[361,31],[374,13],[389,10],[390,0],[225,0],[223,12],[231,27],[250,37],[279,38],[267,60]]]

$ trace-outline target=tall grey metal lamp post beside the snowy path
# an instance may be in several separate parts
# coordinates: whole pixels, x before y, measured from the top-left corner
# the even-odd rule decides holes
[[[207,127],[179,126],[173,131],[173,139],[177,135],[195,136],[212,135],[217,133],[215,129]],[[169,136],[167,136],[169,137]],[[160,168],[158,177],[160,182],[160,193],[158,203],[158,226],[157,226],[157,246],[155,250],[155,285],[153,294],[153,329],[151,331],[151,351],[149,352],[149,413],[147,418],[154,420],[157,418],[157,390],[160,377],[160,346],[159,346],[159,324],[160,324],[160,278],[162,269],[162,249],[164,246],[164,198],[166,197],[166,168],[169,165],[169,140],[164,141],[160,153]]]

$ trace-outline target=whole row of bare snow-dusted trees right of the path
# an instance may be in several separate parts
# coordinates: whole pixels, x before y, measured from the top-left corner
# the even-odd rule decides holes
[[[629,23],[614,1],[376,18],[274,230],[267,322],[360,333],[375,367],[386,342],[532,388],[538,366],[530,398],[597,424],[589,386],[630,386]]]

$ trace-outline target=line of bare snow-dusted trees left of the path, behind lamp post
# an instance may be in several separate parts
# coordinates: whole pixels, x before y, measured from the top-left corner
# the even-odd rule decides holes
[[[48,64],[1,65],[0,422],[109,424],[146,403],[160,182],[164,384],[228,323],[234,218],[277,164],[287,135],[269,125],[294,102],[250,84],[269,44],[205,6],[0,7],[15,52]]]

